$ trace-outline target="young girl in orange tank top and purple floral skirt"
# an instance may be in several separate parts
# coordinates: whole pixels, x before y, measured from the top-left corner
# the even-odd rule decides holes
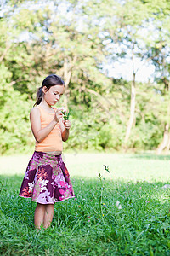
[[[69,172],[61,158],[62,141],[69,137],[71,122],[63,119],[64,108],[53,108],[65,92],[65,82],[49,75],[37,90],[31,109],[31,130],[36,139],[35,152],[27,166],[20,196],[37,202],[34,224],[47,229],[54,216],[54,203],[74,197]]]

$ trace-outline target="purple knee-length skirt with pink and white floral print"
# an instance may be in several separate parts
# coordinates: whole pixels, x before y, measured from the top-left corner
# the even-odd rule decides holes
[[[54,204],[75,197],[61,154],[35,151],[27,166],[19,195],[41,204]]]

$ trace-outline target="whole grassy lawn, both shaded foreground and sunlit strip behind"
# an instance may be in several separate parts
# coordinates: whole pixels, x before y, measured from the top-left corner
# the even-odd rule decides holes
[[[162,189],[169,183],[169,156],[77,154],[71,160],[65,154],[65,159],[77,200],[56,203],[51,228],[39,232],[33,225],[36,204],[18,197],[20,168],[13,165],[17,172],[4,175],[0,159],[0,254],[170,255],[170,189]],[[110,166],[106,179],[103,164]]]

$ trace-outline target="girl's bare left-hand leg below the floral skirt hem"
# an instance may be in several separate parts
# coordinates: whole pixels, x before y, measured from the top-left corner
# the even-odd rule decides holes
[[[41,226],[43,226],[44,216],[45,216],[45,208],[46,205],[42,205],[37,203],[37,207],[34,214],[34,224],[37,229],[40,230]]]

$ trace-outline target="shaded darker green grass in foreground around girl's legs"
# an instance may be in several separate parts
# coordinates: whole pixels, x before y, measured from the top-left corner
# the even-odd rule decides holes
[[[150,255],[150,245],[157,255],[168,250],[169,190],[161,189],[164,183],[74,177],[77,200],[56,203],[52,228],[35,236],[36,204],[18,196],[22,179],[1,177],[3,253],[11,250],[12,255],[13,246],[24,247],[25,255]]]

